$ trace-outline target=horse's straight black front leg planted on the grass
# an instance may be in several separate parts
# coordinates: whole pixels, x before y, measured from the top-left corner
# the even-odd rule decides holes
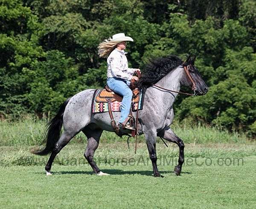
[[[149,158],[152,162],[154,177],[163,177],[160,175],[157,169],[157,151],[156,151],[156,142],[157,142],[157,133],[152,132],[151,130],[148,133],[145,133],[145,139],[148,147]]]

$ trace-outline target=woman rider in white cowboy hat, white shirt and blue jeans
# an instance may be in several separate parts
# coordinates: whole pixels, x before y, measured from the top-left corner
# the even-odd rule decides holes
[[[128,68],[128,61],[126,58],[127,52],[126,41],[133,41],[124,33],[113,35],[112,38],[104,40],[98,46],[99,57],[107,58],[108,73],[107,84],[114,92],[123,96],[121,117],[119,119],[119,126],[124,125],[130,113],[132,91],[129,87],[131,80],[138,80],[137,76],[133,76],[135,72],[140,72],[140,69]],[[129,123],[126,123],[125,128],[134,130]]]

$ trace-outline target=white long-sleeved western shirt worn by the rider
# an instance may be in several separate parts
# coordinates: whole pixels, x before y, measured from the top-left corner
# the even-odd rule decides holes
[[[114,49],[108,56],[108,78],[122,78],[131,81],[131,77],[137,69],[128,68],[128,61],[124,50]]]

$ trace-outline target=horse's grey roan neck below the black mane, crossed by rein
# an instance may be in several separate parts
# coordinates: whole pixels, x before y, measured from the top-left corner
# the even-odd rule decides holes
[[[165,89],[180,91],[180,81],[182,80],[183,76],[183,67],[179,66],[175,70],[172,70],[170,73],[165,75],[160,81],[156,83],[157,86],[160,86]],[[154,98],[160,100],[164,103],[166,108],[172,106],[175,101],[175,97],[177,93],[162,90],[155,86],[148,87],[146,90],[146,95],[151,97],[150,95],[154,95]]]

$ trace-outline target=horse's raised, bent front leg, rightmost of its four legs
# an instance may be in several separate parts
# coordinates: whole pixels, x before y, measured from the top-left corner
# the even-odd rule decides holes
[[[180,139],[171,128],[166,128],[163,131],[160,131],[160,133],[157,134],[157,136],[161,136],[164,139],[166,139],[169,142],[173,142],[179,146],[179,160],[178,165],[175,166],[174,172],[177,176],[180,175],[182,164],[184,163],[184,143],[182,139]]]

